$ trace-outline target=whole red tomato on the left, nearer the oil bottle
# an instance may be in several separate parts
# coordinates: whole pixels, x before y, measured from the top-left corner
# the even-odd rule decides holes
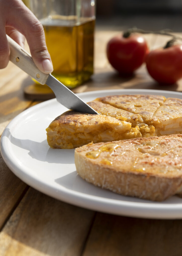
[[[107,44],[107,58],[113,68],[121,74],[132,74],[145,61],[148,46],[137,34],[128,37],[116,36]]]

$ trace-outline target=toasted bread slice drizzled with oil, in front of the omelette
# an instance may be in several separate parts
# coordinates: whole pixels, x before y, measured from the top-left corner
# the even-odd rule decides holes
[[[77,173],[115,193],[162,201],[182,194],[182,135],[135,138],[75,149]]]

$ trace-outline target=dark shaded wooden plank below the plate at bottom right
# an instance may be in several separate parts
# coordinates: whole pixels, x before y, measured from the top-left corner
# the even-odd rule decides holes
[[[82,256],[180,256],[182,220],[97,213]]]

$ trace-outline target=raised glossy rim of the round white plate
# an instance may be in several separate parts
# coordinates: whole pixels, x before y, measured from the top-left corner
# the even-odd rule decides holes
[[[113,93],[115,92],[132,92],[132,94],[138,94],[143,93],[149,93],[151,94],[152,92],[155,93],[159,93],[160,94],[171,94],[170,97],[172,97],[173,94],[178,94],[181,96],[182,98],[182,92],[176,92],[176,91],[165,91],[165,90],[151,90],[151,89],[109,89],[109,90],[95,90],[95,91],[88,91],[88,92],[81,92],[81,93],[77,93],[77,95],[79,97],[84,97],[85,95],[91,95],[94,94],[99,94],[99,93],[112,93],[111,95],[114,95]],[[126,93],[125,93],[126,94]],[[158,218],[158,219],[174,219],[174,218],[178,218],[181,219],[182,218],[182,202],[181,204],[177,204],[178,207],[176,207],[176,204],[161,204],[160,202],[153,202],[153,203],[147,203],[147,202],[134,202],[134,201],[120,201],[118,199],[110,199],[110,198],[103,198],[101,196],[95,196],[95,195],[88,195],[79,191],[74,191],[74,190],[69,190],[67,188],[64,188],[64,191],[59,191],[59,193],[55,193],[54,188],[44,182],[41,182],[40,180],[34,179],[32,178],[32,176],[27,173],[24,173],[23,170],[20,170],[20,168],[18,168],[17,163],[14,163],[12,161],[12,159],[9,159],[9,156],[3,146],[3,144],[5,143],[5,138],[8,139],[7,135],[7,130],[13,126],[19,119],[21,119],[23,116],[27,116],[30,112],[33,112],[34,109],[40,109],[43,108],[44,105],[51,105],[53,102],[56,102],[56,99],[50,99],[41,103],[38,103],[37,105],[34,105],[24,111],[22,111],[20,114],[18,114],[15,118],[13,118],[9,124],[5,127],[2,136],[1,136],[1,141],[0,141],[0,150],[1,150],[1,154],[2,157],[5,161],[5,163],[7,164],[7,166],[10,168],[10,170],[17,176],[19,177],[23,182],[25,182],[26,184],[30,185],[31,187],[35,188],[38,191],[41,191],[44,194],[47,194],[51,197],[54,197],[58,200],[62,200],[64,202],[76,205],[76,206],[80,206],[80,207],[84,207],[90,210],[96,210],[96,211],[103,211],[106,213],[110,213],[110,214],[117,214],[117,215],[124,215],[124,216],[130,216],[130,217],[139,217],[139,218]],[[10,136],[10,135],[9,135]],[[10,160],[10,161],[8,161]],[[23,177],[20,175],[19,171],[21,172],[21,174],[23,174]],[[24,176],[25,175],[25,176]],[[86,181],[85,181],[86,182]],[[43,186],[42,186],[43,185]],[[41,187],[40,187],[41,186]],[[47,193],[46,188],[48,188],[49,192]],[[68,197],[64,200],[64,194],[66,194]],[[62,194],[62,196],[60,196]],[[75,199],[78,199],[77,202],[75,202]],[[82,201],[83,199],[83,201]],[[85,200],[88,200],[90,204],[85,205]],[[142,199],[141,199],[142,200]],[[108,208],[108,202],[109,205],[114,205],[115,206],[115,210],[113,211],[112,209],[106,209]],[[120,203],[119,203],[120,202]],[[121,204],[122,202],[122,204]],[[96,205],[93,205],[93,203],[95,203]],[[102,203],[102,209],[100,207],[100,205],[98,205],[98,203]],[[118,209],[118,207],[123,207],[122,208],[122,212],[120,211],[121,209]],[[143,213],[141,214],[141,212],[135,212],[135,214],[132,213],[127,213],[128,210],[131,210],[131,208],[135,208],[135,211],[141,211],[142,209],[147,209],[147,210],[151,210],[152,214],[147,214],[147,213]],[[111,207],[112,208],[112,207]],[[173,214],[174,209],[176,211],[180,211],[180,212],[176,212],[176,214]],[[164,210],[168,210],[168,213],[166,216],[163,215],[163,212],[160,211],[164,211]],[[154,211],[154,212],[153,212]],[[158,211],[158,212],[155,212]],[[171,212],[172,211],[172,212]]]

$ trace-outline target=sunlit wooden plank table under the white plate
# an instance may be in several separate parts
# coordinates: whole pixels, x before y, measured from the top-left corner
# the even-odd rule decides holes
[[[117,31],[96,31],[95,74],[74,92],[141,88],[182,91],[182,81],[159,86],[142,66],[121,78],[109,65],[106,42]],[[168,37],[145,35],[150,48]],[[0,70],[0,133],[16,115],[38,101],[24,98],[31,79],[9,63]],[[46,196],[17,178],[0,158],[0,255],[182,255],[182,220],[116,216],[76,207]]]

